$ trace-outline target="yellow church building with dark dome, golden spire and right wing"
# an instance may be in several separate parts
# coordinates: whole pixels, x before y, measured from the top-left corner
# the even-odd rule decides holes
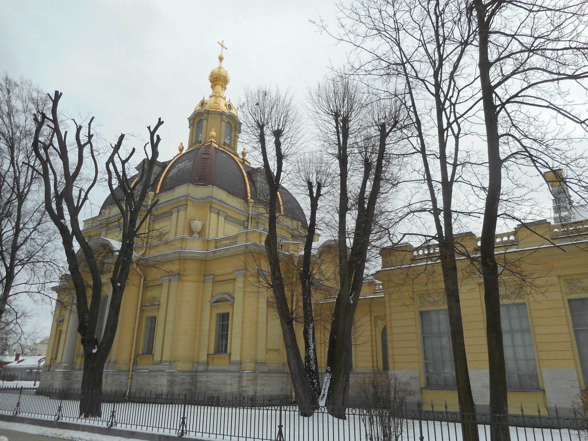
[[[186,146],[156,167],[159,202],[149,219],[149,235],[136,249],[137,265],[106,363],[105,389],[292,393],[279,319],[260,269],[267,232],[261,197],[265,176],[250,165],[245,149],[239,152],[241,123],[225,98],[229,74],[222,62],[220,55],[209,76],[211,95],[188,118]],[[298,255],[305,213],[285,188],[279,206],[282,250]],[[109,196],[99,215],[86,220],[84,232],[96,248],[116,252],[117,212]],[[587,235],[588,222],[580,219],[539,221],[497,236],[505,268],[519,268],[519,278],[503,274],[502,295],[513,412],[520,412],[521,403],[526,413],[569,409],[573,397],[588,387]],[[460,236],[472,254],[477,240],[473,233]],[[336,261],[332,245],[326,241],[316,253],[327,266]],[[352,379],[386,371],[403,379],[415,393],[412,399],[436,406],[446,400],[455,409],[455,370],[435,254],[435,247],[409,244],[382,249],[382,269],[377,280],[364,283],[356,313]],[[483,408],[489,400],[483,284],[466,259],[459,262],[470,377]],[[109,306],[107,268],[103,281],[102,327]],[[316,299],[318,317],[328,316],[337,292],[334,282],[326,286]],[[61,302],[40,387],[79,387],[83,353],[74,295],[66,280],[54,289]],[[299,333],[302,347],[302,329]],[[327,335],[318,327],[322,368]]]

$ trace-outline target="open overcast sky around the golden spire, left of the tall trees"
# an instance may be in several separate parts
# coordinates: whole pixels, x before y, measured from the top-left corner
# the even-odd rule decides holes
[[[63,92],[62,109],[95,116],[111,141],[121,132],[146,138],[161,116],[163,161],[187,144],[186,118],[210,94],[218,41],[233,101],[243,86],[270,82],[303,101],[307,85],[345,61],[346,48],[309,22],[332,21],[333,0],[0,0],[0,11],[0,72]],[[35,309],[48,335],[51,308]]]

